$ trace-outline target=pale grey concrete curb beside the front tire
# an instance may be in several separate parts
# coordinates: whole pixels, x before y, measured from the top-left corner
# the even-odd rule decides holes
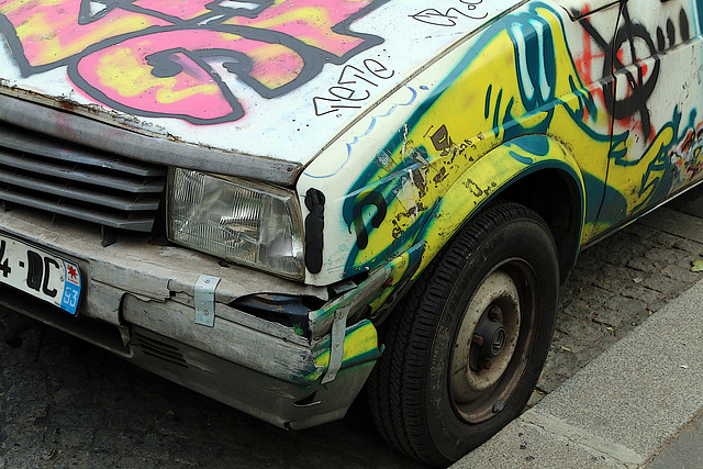
[[[453,469],[637,468],[703,409],[703,281]]]

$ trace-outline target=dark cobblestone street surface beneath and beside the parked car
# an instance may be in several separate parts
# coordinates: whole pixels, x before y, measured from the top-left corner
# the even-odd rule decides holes
[[[703,189],[582,253],[539,393],[698,281],[702,258]],[[0,312],[0,325],[9,319]],[[21,348],[0,343],[0,468],[422,467],[364,412],[286,432],[48,328],[27,331]]]

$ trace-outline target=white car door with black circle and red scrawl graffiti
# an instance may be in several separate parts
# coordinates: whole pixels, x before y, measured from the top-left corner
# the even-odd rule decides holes
[[[626,0],[612,44],[607,190],[599,221],[623,223],[701,177],[700,2]]]

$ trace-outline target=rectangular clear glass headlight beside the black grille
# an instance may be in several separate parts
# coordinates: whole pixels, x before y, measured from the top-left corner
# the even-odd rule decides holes
[[[303,277],[300,211],[293,192],[171,168],[168,238],[286,277]]]

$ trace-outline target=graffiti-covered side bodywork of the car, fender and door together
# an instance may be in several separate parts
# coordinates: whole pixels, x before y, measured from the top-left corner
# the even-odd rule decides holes
[[[651,91],[658,71],[655,65],[660,60],[701,62],[698,8],[691,2],[688,10],[669,9],[669,14],[676,10],[682,32],[676,34],[676,42],[670,31],[667,41],[672,47],[649,58],[648,68],[646,63],[639,66],[649,75],[637,86],[628,85],[637,77],[637,68],[631,66],[613,76],[611,70],[622,59],[614,64],[618,55],[602,51],[614,41],[620,49],[629,44],[626,32],[635,20],[616,30],[617,3],[572,21],[562,8],[532,2],[457,46],[380,103],[377,112],[359,121],[303,172],[298,185],[301,198],[310,189],[321,190],[330,211],[342,213],[336,220],[325,219],[337,227],[325,232],[324,245],[330,248],[323,255],[324,267],[309,279],[324,284],[373,269],[424,238],[432,232],[427,226],[437,217],[436,208],[459,177],[467,172],[471,176],[465,179],[480,178],[481,171],[471,170],[475,161],[522,135],[547,135],[577,161],[577,179],[582,179],[584,193],[581,244],[644,213],[698,178],[695,116],[701,91],[692,83],[699,81],[699,68],[687,68],[688,74],[677,77],[677,85]],[[660,22],[671,24],[671,20]],[[662,34],[656,23],[652,29]],[[678,45],[682,40],[685,47]],[[648,41],[646,44],[651,43]],[[651,93],[647,97],[643,92]],[[643,101],[639,108],[628,104],[638,99]],[[647,122],[646,133],[639,115]],[[681,115],[690,122],[679,125]],[[375,147],[370,142],[382,135],[393,137],[369,152],[369,146]],[[676,147],[676,142],[684,147]],[[551,155],[546,146],[544,150],[547,158],[563,159],[559,152]],[[346,159],[339,165],[338,158],[326,157],[326,153],[346,153]],[[510,150],[504,153],[520,159]],[[682,153],[685,155],[674,158]],[[676,182],[672,171],[678,175]],[[481,191],[496,192],[513,182],[513,172],[502,168],[498,172]],[[342,188],[327,186],[326,178],[356,180]],[[475,202],[471,198],[466,201]],[[457,216],[455,228],[470,213],[453,214]],[[443,233],[444,239],[453,233]],[[425,241],[429,239],[432,236]],[[443,244],[429,242],[425,256],[432,258]]]

